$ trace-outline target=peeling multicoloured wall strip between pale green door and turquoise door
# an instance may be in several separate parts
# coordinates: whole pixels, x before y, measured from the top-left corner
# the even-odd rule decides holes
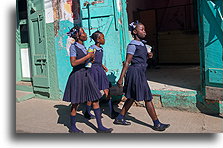
[[[66,80],[71,71],[70,40],[66,33],[73,27],[72,0],[44,0],[49,51],[51,94],[62,98]],[[53,34],[53,35],[52,35]],[[53,73],[52,73],[53,72]],[[53,92],[57,91],[57,92]]]

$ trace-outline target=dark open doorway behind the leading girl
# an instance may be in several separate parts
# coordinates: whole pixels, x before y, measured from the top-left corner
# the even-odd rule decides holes
[[[128,20],[146,27],[152,46],[148,80],[152,90],[200,89],[200,53],[196,0],[127,1]]]

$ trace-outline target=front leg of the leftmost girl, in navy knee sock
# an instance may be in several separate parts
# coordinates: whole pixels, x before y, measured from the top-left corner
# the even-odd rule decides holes
[[[95,118],[98,124],[98,131],[99,133],[111,133],[112,132],[112,128],[106,128],[103,126],[102,121],[101,121],[101,110],[100,110],[100,106],[99,106],[99,101],[94,101],[92,102],[93,105],[93,110],[94,110],[94,114],[95,114]]]

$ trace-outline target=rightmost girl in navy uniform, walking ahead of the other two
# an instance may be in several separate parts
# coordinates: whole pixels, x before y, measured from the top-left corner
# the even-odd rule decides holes
[[[125,76],[123,92],[127,98],[120,114],[115,118],[114,124],[130,125],[125,120],[125,115],[132,106],[134,100],[145,101],[146,111],[152,118],[153,129],[164,131],[169,124],[163,124],[158,120],[152,103],[152,94],[146,79],[147,58],[152,58],[152,52],[148,52],[143,39],[146,36],[145,27],[142,23],[133,22],[129,25],[134,38],[127,47],[126,61],[117,84],[121,87]]]

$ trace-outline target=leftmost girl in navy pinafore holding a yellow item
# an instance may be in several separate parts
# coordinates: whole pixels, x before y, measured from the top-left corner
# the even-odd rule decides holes
[[[70,113],[71,128],[69,131],[71,133],[83,133],[76,127],[77,107],[80,103],[91,101],[98,125],[97,132],[111,133],[113,129],[104,127],[101,121],[98,101],[101,98],[100,91],[85,67],[86,61],[94,56],[94,53],[87,53],[83,45],[83,42],[87,40],[87,34],[83,28],[76,26],[70,30],[68,35],[75,39],[74,44],[70,46],[70,63],[73,71],[68,78],[63,97],[64,101],[72,104]]]

